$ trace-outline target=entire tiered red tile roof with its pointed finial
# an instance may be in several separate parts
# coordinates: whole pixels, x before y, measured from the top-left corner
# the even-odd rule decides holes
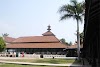
[[[16,39],[5,38],[5,41],[12,42],[7,44],[6,48],[68,48],[50,31],[50,25],[47,30],[47,32],[42,34],[43,36],[19,37]]]

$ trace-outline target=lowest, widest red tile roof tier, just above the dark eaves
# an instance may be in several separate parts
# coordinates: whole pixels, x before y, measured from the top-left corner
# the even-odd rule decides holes
[[[8,44],[6,48],[67,48],[61,43],[17,43]]]

